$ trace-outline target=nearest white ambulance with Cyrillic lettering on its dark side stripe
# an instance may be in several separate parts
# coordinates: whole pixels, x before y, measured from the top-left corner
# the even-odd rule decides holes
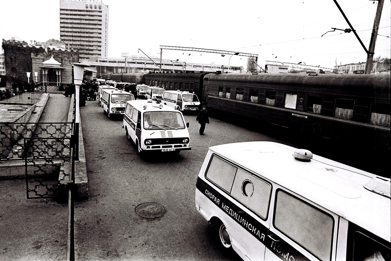
[[[274,142],[209,148],[197,211],[244,260],[390,260],[391,183]]]

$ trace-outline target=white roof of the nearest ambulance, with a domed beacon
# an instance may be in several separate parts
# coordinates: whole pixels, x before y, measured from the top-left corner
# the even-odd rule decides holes
[[[296,160],[296,148],[276,142],[239,142],[209,149],[390,241],[388,178],[318,155],[308,162]]]

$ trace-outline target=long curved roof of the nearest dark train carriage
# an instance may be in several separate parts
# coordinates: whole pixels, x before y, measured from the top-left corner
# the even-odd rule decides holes
[[[205,80],[390,90],[390,74],[208,74]]]

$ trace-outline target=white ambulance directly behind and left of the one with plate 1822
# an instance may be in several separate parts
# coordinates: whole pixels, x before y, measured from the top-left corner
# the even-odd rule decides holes
[[[129,92],[118,89],[103,90],[102,94],[102,108],[107,116],[124,114],[126,102],[133,101],[135,97]]]

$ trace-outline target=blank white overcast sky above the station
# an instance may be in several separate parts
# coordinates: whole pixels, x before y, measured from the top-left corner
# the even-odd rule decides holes
[[[100,2],[100,1],[99,1]],[[377,2],[337,0],[368,50]],[[373,2],[375,2],[373,4]],[[333,0],[102,0],[109,6],[109,57],[123,52],[160,58],[160,45],[258,54],[264,61],[333,68],[366,61],[366,52]],[[2,0],[0,39],[59,40],[59,1]],[[375,57],[390,57],[390,1],[384,1]],[[190,55],[189,55],[190,54]],[[188,63],[240,65],[247,57],[163,50],[163,59]],[[230,59],[230,61],[229,61]]]

